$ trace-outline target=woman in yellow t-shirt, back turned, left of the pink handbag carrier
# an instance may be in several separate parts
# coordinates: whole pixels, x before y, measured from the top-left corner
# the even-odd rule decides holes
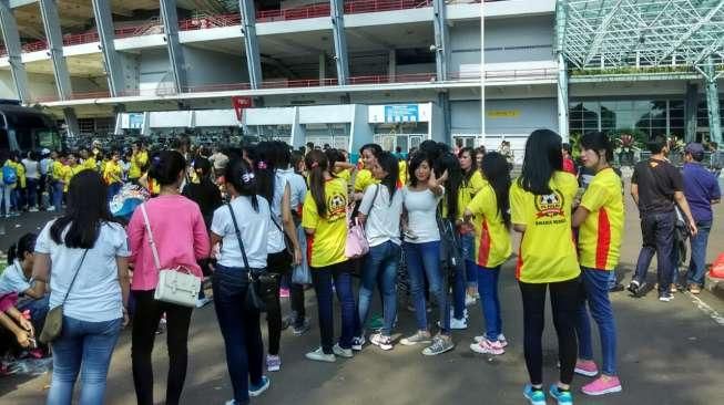
[[[335,355],[351,357],[355,332],[355,298],[351,274],[345,256],[347,239],[347,185],[329,174],[327,156],[312,150],[305,157],[309,170],[309,191],[304,199],[302,226],[307,233],[307,257],[317,294],[322,346],[306,357],[334,362]],[[333,289],[341,303],[341,338],[334,343]]]

